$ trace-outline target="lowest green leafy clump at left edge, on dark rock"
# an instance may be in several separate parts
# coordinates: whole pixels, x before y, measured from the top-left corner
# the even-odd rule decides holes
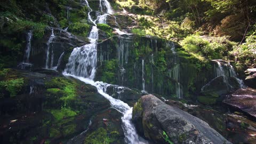
[[[21,91],[23,84],[24,78],[11,79],[0,82],[0,88],[8,91],[11,97],[15,97]]]

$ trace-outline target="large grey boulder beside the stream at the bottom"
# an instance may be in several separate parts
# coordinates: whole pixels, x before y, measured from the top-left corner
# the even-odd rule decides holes
[[[143,126],[139,132],[155,143],[230,143],[201,119],[151,94],[137,102],[132,118]]]

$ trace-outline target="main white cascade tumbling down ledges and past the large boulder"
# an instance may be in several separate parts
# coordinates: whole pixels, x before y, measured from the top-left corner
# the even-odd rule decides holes
[[[92,12],[88,2],[85,0],[84,3],[89,7],[90,12]],[[113,11],[107,0],[102,0],[102,7],[107,8],[107,13],[112,14]],[[100,8],[101,9],[101,8]],[[90,12],[88,15],[90,15]],[[105,16],[104,16],[105,17]],[[98,92],[103,95],[106,99],[110,101],[112,107],[116,108],[120,113],[123,114],[122,122],[123,129],[125,133],[125,142],[126,143],[147,143],[137,134],[134,125],[131,122],[132,119],[132,107],[127,105],[121,100],[114,99],[106,93],[107,87],[109,84],[103,82],[94,82],[94,76],[97,67],[97,41],[98,41],[98,28],[96,25],[97,21],[93,21],[91,17],[89,20],[94,23],[95,26],[92,27],[90,32],[89,39],[91,44],[87,44],[81,47],[76,47],[69,57],[69,62],[66,66],[66,69],[63,73],[65,76],[72,76],[81,80],[86,84],[91,84],[97,87]],[[104,22],[104,21],[103,21]],[[123,52],[122,52],[123,53]],[[120,55],[121,57],[121,55]],[[123,60],[122,60],[123,61]]]

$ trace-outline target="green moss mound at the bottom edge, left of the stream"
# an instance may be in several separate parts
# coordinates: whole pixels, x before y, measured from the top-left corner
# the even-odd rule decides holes
[[[117,133],[113,133],[112,136],[115,135],[116,137],[116,134]],[[84,144],[99,144],[99,143],[109,144],[116,140],[115,137],[109,137],[107,130],[100,127],[97,131],[92,132],[85,138]]]

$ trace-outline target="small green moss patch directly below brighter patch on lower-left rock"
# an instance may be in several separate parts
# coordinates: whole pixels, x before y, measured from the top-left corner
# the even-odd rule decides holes
[[[69,108],[62,108],[62,109],[52,109],[50,113],[54,116],[57,121],[65,117],[73,117],[76,116],[77,113]]]

